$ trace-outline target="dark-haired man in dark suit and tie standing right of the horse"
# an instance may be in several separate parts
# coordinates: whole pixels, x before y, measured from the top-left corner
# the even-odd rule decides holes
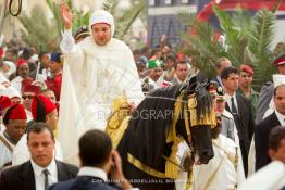
[[[221,73],[221,78],[226,92],[225,109],[234,116],[243,155],[244,169],[247,176],[248,152],[255,127],[251,103],[246,97],[236,93],[238,89],[237,68],[232,66],[224,68]]]

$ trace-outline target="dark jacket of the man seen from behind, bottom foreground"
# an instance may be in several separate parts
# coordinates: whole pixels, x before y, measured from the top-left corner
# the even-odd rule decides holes
[[[100,178],[77,176],[74,179],[53,185],[49,190],[115,190],[115,188],[104,183]]]

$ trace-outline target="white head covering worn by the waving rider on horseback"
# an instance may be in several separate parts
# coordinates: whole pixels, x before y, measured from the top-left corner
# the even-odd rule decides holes
[[[104,10],[99,10],[99,11],[95,11],[92,13],[92,15],[90,16],[90,20],[89,20],[90,31],[91,31],[92,25],[99,24],[99,23],[104,23],[104,24],[110,25],[111,37],[113,37],[114,31],[115,31],[114,18],[109,12],[107,12]]]

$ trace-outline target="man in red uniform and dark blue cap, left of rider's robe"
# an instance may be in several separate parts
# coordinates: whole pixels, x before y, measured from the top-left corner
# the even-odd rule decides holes
[[[49,68],[52,73],[51,77],[46,80],[47,87],[54,91],[57,101],[60,101],[61,81],[62,81],[62,53],[51,53]]]

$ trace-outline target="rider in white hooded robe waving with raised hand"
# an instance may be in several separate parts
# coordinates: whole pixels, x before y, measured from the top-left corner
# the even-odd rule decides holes
[[[64,0],[61,15],[64,66],[59,135],[64,141],[64,156],[76,157],[76,150],[70,142],[90,128],[104,130],[115,98],[126,97],[129,103],[137,105],[144,93],[132,51],[123,41],[113,38],[115,26],[109,12],[98,10],[91,14],[91,35],[77,45],[71,31],[72,12]],[[70,139],[63,137],[65,130]]]

